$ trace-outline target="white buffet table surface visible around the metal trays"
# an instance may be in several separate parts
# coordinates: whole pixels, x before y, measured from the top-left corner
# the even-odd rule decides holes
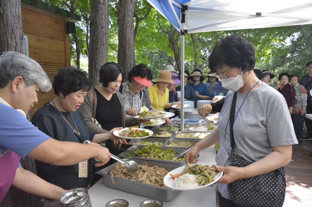
[[[213,146],[199,152],[198,163],[215,164],[216,150]],[[217,206],[217,186],[209,186],[199,190],[181,191],[172,201],[163,202],[164,207],[184,206]],[[104,207],[105,204],[114,199],[124,199],[129,202],[129,207],[139,207],[143,200],[149,199],[143,196],[127,193],[106,187],[100,179],[89,189],[92,207]]]

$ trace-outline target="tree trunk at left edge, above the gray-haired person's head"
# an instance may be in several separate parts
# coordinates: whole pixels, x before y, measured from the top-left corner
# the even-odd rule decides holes
[[[0,52],[24,54],[21,0],[0,0]]]

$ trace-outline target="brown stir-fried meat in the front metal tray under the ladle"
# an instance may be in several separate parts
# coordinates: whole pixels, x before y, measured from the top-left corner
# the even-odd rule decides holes
[[[139,165],[137,172],[128,172],[124,164],[116,164],[110,171],[111,176],[121,177],[128,180],[143,182],[159,187],[166,187],[163,184],[163,177],[168,173],[165,168],[149,167],[146,162],[143,165]]]

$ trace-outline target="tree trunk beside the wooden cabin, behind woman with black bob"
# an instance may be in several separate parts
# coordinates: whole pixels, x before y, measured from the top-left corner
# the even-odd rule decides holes
[[[89,79],[97,86],[100,67],[107,62],[108,0],[90,0],[90,6]]]

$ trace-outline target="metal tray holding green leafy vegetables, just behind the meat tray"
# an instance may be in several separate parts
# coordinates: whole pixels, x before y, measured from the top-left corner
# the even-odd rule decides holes
[[[135,150],[135,149],[142,149],[143,147],[145,147],[144,145],[132,145],[131,147],[129,147],[127,150]],[[173,149],[174,151],[177,152],[181,152],[182,150],[184,150],[185,148],[182,147],[159,147],[162,150],[168,150],[168,149]],[[129,158],[126,156],[127,153],[122,152],[120,154],[118,154],[118,157],[121,158]],[[163,164],[167,164],[167,165],[173,165],[173,166],[177,166],[177,167],[181,167],[185,165],[184,161],[171,161],[171,160],[160,160],[160,159],[147,159],[147,158],[139,158],[139,157],[131,157],[134,159],[141,159],[141,160],[145,160],[145,161],[153,161],[156,163],[163,163]]]

